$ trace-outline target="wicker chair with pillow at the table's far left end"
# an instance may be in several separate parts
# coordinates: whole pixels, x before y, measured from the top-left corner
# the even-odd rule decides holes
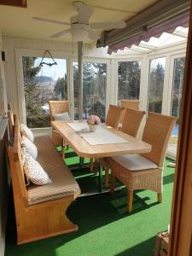
[[[53,115],[55,113],[65,113],[69,111],[68,101],[49,101],[49,109],[50,109],[50,121],[54,121]],[[61,146],[61,155],[62,158],[65,157],[65,142],[61,135],[52,129],[52,140],[55,146]]]

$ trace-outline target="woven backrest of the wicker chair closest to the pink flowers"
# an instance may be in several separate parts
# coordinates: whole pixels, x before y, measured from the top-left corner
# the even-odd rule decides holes
[[[105,120],[106,125],[117,129],[119,126],[119,119],[124,108],[115,105],[109,105],[107,118]]]

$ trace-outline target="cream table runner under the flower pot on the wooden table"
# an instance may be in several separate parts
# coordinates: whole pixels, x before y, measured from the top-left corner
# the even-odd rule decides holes
[[[129,143],[122,137],[114,134],[107,129],[102,128],[99,125],[95,132],[90,132],[89,125],[87,123],[67,123],[71,126],[74,131],[79,133],[80,137],[83,137],[84,140],[92,146],[95,145],[104,145],[104,144],[115,144],[115,143]]]

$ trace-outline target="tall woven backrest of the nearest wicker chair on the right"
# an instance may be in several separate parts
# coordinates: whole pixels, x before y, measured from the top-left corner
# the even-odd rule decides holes
[[[148,113],[148,119],[143,131],[143,142],[149,143],[152,149],[143,154],[157,166],[163,167],[166,157],[166,148],[175,125],[176,118],[160,113]]]

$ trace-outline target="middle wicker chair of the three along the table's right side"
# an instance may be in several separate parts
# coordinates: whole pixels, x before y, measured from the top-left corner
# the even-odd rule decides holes
[[[139,126],[142,122],[145,111],[139,111],[131,108],[125,109],[125,119],[122,127],[119,129],[126,134],[131,135],[132,137],[137,137],[137,132]],[[110,162],[111,158],[105,158],[103,160],[105,166],[105,187],[108,188],[108,177],[109,177],[109,166],[108,161]]]

